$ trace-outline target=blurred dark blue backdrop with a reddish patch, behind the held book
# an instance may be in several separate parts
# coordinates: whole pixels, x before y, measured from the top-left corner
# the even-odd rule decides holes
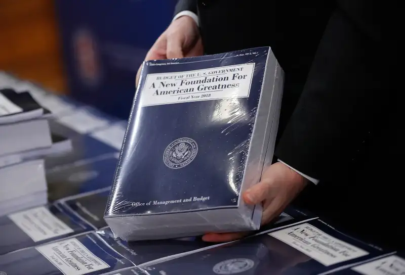
[[[175,0],[57,0],[70,94],[128,118],[135,76]]]

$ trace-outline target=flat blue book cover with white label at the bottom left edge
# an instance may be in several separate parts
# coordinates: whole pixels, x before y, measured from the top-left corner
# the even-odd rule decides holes
[[[7,275],[101,275],[131,266],[94,234],[0,256],[0,272]]]

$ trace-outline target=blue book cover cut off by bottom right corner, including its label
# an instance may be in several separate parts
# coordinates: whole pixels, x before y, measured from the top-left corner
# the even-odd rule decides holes
[[[390,253],[376,257],[376,259],[358,263],[355,266],[347,266],[333,275],[403,275],[405,274],[405,254]],[[124,274],[123,274],[124,275]]]

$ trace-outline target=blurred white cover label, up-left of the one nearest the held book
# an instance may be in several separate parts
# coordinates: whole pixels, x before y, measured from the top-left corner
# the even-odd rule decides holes
[[[79,133],[89,133],[108,125],[108,120],[98,117],[85,109],[60,117],[58,121]]]

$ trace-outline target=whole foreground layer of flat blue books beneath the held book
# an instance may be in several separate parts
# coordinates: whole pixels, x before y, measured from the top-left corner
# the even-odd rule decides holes
[[[93,211],[92,202],[102,198],[105,192],[89,193],[0,217],[0,271],[7,275],[399,275],[405,271],[403,253],[354,239],[316,216],[291,208],[266,230],[238,241],[212,244],[192,237],[127,242],[94,222],[92,216],[100,215]]]

